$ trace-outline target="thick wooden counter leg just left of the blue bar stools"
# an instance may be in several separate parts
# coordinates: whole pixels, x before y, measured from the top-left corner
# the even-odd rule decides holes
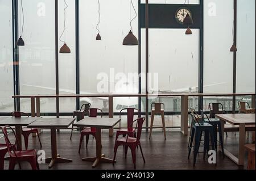
[[[188,135],[188,95],[181,96],[181,132]]]

